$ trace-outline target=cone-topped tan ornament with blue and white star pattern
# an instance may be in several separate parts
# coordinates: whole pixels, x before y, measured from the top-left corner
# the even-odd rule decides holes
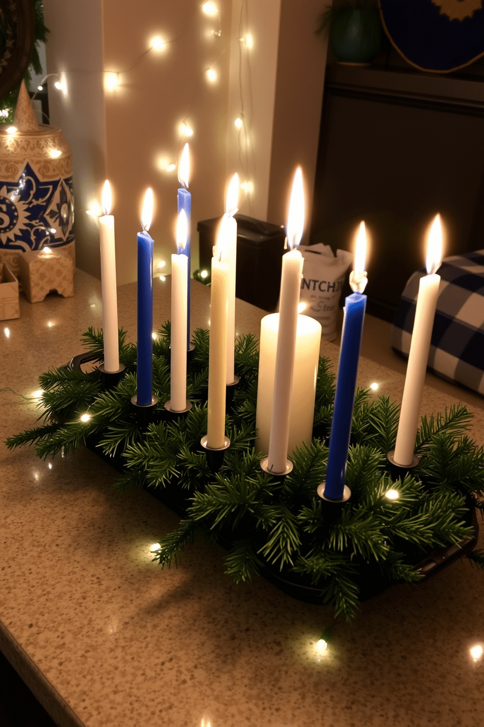
[[[14,124],[0,124],[0,261],[49,247],[74,260],[73,163],[60,129],[38,124],[22,81]]]

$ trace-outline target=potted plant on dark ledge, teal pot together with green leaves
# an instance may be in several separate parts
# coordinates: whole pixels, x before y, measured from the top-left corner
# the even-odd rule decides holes
[[[316,33],[329,31],[341,63],[369,63],[380,50],[382,24],[377,0],[340,0],[321,13]]]

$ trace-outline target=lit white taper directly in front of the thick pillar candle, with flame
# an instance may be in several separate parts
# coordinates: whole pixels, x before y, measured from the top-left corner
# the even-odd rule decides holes
[[[271,417],[271,435],[267,467],[270,472],[286,471],[289,443],[292,374],[296,350],[296,329],[303,256],[297,248],[303,236],[304,190],[303,172],[298,166],[292,182],[289,214],[287,216],[287,244],[290,252],[282,256],[281,292],[279,295],[279,332],[277,334],[276,371],[274,374],[274,400]]]

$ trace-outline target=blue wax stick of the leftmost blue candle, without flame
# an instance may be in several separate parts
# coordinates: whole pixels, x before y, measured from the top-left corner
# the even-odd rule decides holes
[[[138,233],[138,379],[136,403],[149,406],[153,389],[153,240]]]

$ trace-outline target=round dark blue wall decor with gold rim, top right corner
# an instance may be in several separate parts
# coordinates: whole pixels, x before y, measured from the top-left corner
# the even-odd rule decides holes
[[[450,73],[484,55],[483,0],[379,0],[395,49],[421,71]]]

